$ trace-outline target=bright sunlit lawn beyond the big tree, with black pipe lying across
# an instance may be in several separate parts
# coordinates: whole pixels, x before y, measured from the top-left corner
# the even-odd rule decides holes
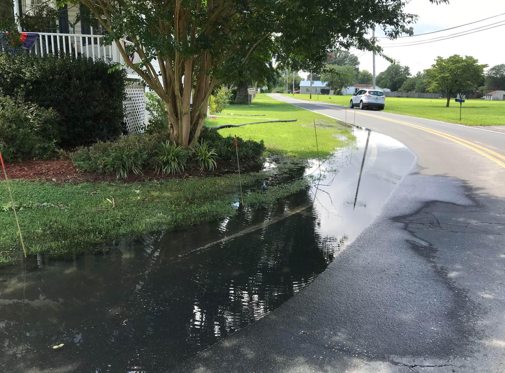
[[[319,154],[326,157],[335,148],[347,145],[353,141],[349,128],[342,126],[336,120],[316,114],[293,105],[275,100],[265,94],[258,94],[251,105],[230,105],[219,116],[227,114],[265,114],[265,117],[229,118],[207,120],[206,125],[240,124],[259,122],[271,119],[296,119],[296,122],[251,124],[236,128],[223,128],[219,132],[223,136],[237,135],[243,139],[263,140],[270,151],[300,158],[316,158],[316,137],[314,120],[316,121]]]

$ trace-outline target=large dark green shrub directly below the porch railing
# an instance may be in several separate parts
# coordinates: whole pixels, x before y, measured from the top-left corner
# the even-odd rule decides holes
[[[73,56],[0,54],[0,89],[60,114],[64,147],[87,145],[121,134],[126,72]]]

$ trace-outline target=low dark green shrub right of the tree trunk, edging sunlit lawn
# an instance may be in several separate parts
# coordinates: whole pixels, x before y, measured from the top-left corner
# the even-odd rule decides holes
[[[209,142],[215,148],[219,158],[225,162],[236,162],[235,138],[233,136],[223,137],[216,129],[204,128],[200,138]],[[265,144],[263,140],[259,143],[253,140],[244,141],[237,137],[238,159],[243,164],[260,164],[263,162]]]

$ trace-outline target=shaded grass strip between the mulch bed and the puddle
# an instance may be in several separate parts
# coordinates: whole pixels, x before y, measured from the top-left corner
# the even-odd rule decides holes
[[[287,170],[279,169],[281,179]],[[305,178],[263,187],[269,172],[242,175],[244,206],[268,204],[307,187]],[[237,212],[238,175],[135,183],[29,182],[11,180],[28,254],[62,255],[90,244],[142,232],[172,229]],[[0,264],[20,255],[21,245],[5,181],[0,182]]]

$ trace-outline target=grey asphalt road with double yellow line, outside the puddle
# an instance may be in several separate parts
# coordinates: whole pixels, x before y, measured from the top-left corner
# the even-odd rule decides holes
[[[177,371],[505,371],[505,133],[273,96],[417,164],[316,281]]]

